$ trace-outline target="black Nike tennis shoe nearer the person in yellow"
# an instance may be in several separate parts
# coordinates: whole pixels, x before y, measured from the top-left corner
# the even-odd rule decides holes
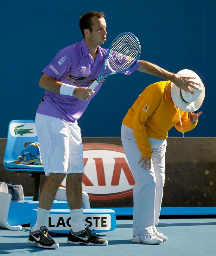
[[[79,232],[73,232],[71,229],[67,237],[67,243],[72,245],[108,245],[106,239],[97,237],[92,231],[93,229],[90,230],[88,226]]]

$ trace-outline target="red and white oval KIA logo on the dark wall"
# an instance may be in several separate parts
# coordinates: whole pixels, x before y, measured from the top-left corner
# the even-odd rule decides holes
[[[83,191],[91,200],[113,200],[133,194],[135,180],[121,146],[86,143]]]

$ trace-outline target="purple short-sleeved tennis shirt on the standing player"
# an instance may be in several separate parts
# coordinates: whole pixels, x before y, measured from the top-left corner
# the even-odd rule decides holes
[[[81,42],[60,50],[41,73],[46,73],[48,76],[66,84],[77,87],[88,87],[102,71],[107,52],[108,49],[98,46],[97,56],[94,60],[83,39]],[[137,70],[139,65],[140,62],[138,60],[124,74],[130,75]],[[111,73],[111,71],[107,68],[105,73]],[[94,89],[95,93],[92,94],[89,100],[79,100],[74,96],[46,91],[37,109],[37,113],[54,116],[61,120],[74,123],[84,113],[90,100],[97,94],[103,82],[104,80]]]

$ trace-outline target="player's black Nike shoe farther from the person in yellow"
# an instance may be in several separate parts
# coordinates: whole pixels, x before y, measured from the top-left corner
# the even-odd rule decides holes
[[[52,237],[48,233],[48,229],[46,226],[41,226],[40,230],[32,231],[32,228],[29,233],[30,244],[37,244],[41,248],[46,249],[57,249],[59,248],[59,244],[56,243]]]

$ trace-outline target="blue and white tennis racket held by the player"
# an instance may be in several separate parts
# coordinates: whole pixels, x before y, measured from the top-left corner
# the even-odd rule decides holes
[[[100,81],[109,75],[129,70],[139,59],[140,52],[141,46],[134,34],[130,32],[119,34],[110,45],[102,72],[89,86],[89,89],[93,90]],[[106,67],[111,73],[104,74]]]

